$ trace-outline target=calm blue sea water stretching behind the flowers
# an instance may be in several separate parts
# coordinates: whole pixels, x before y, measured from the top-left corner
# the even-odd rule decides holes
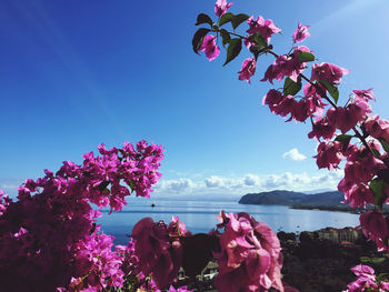
[[[152,208],[151,203],[156,207]],[[142,218],[150,217],[154,221],[171,221],[177,215],[192,233],[209,232],[218,223],[217,214],[226,212],[248,212],[257,221],[268,223],[276,232],[315,231],[326,226],[343,228],[359,225],[359,217],[343,212],[288,209],[283,205],[247,205],[238,202],[212,201],[149,201],[137,198],[130,201],[121,212],[108,214],[102,212],[98,223],[104,233],[116,236],[116,244],[126,244],[127,234]]]

